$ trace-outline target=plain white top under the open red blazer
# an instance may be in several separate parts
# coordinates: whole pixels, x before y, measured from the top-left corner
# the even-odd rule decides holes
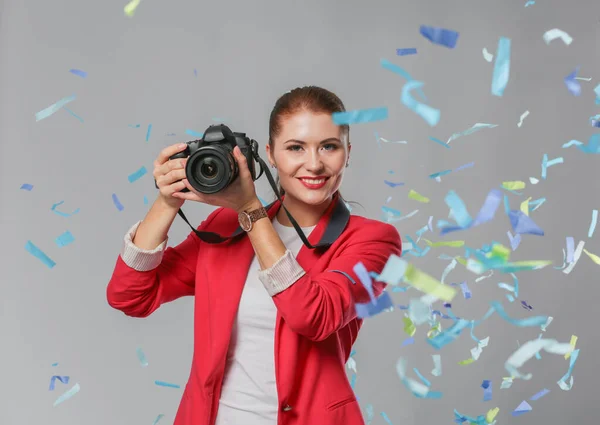
[[[273,219],[286,248],[298,255],[302,239]],[[303,227],[308,237],[316,226]],[[259,279],[256,255],[250,265],[231,333],[215,425],[277,425],[275,319],[277,309]]]

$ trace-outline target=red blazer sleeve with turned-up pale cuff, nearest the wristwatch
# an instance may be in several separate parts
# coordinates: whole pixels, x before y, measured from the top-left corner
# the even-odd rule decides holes
[[[288,250],[270,269],[259,271],[259,278],[287,325],[306,338],[322,341],[357,317],[355,303],[370,301],[354,273],[356,263],[362,262],[369,272],[379,274],[391,254],[401,253],[398,230],[373,221],[353,235],[324,272],[308,275]],[[385,286],[373,281],[375,297]]]

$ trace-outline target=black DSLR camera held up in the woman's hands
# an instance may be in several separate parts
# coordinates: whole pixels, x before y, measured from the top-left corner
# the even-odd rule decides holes
[[[252,180],[257,180],[263,173],[256,175],[255,158],[258,159],[258,143],[246,137],[246,133],[231,131],[224,124],[211,125],[204,132],[202,139],[187,142],[182,152],[169,159],[188,158],[185,175],[190,185],[200,193],[217,193],[227,188],[239,175],[239,168],[233,149],[239,146],[246,157]],[[260,164],[259,164],[260,165]],[[189,192],[184,188],[182,192]]]

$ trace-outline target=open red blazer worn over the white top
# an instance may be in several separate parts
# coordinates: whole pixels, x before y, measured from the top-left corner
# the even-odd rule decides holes
[[[338,197],[308,238],[315,245],[333,230],[333,243],[319,252],[303,245],[296,259],[306,274],[273,297],[278,425],[364,424],[345,371],[362,325],[354,303],[370,300],[353,267],[360,261],[381,273],[391,254],[401,254],[401,242],[394,226],[350,215],[334,208],[336,202]],[[271,219],[279,206],[276,201],[268,208]],[[198,227],[224,236],[236,229],[237,214],[224,208]],[[192,232],[168,247],[154,270],[139,272],[117,258],[107,298],[128,316],[146,317],[163,303],[195,296],[192,368],[174,425],[214,424],[233,321],[253,257],[245,234],[209,244]],[[373,282],[376,296],[384,287]]]

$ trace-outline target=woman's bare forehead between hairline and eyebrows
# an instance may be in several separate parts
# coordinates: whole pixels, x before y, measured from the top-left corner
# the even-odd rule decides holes
[[[331,114],[299,111],[282,117],[279,140],[297,139],[320,142],[329,137],[340,137],[341,128],[333,123]]]

